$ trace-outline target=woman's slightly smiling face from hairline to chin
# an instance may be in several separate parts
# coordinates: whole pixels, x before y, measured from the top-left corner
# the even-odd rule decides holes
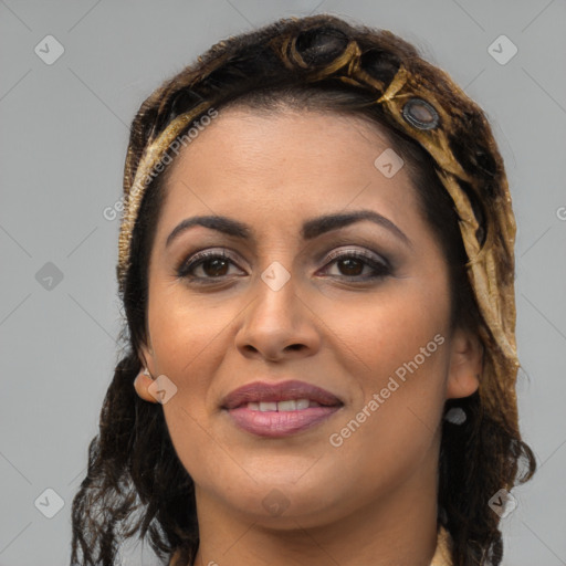
[[[163,410],[200,513],[308,526],[436,500],[443,402],[481,368],[449,319],[441,248],[376,126],[231,108],[172,165],[143,356],[177,388]]]

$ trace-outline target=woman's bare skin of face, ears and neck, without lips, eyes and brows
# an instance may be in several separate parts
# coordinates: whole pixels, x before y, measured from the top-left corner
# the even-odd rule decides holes
[[[196,484],[196,564],[424,566],[432,558],[443,403],[476,390],[482,355],[475,335],[449,328],[448,266],[406,167],[386,178],[374,165],[388,147],[361,118],[235,107],[172,164],[149,265],[149,339],[139,355],[151,376],[177,387],[163,410]],[[359,209],[388,218],[410,244],[367,220],[301,237],[307,219]],[[166,247],[180,221],[213,213],[249,224],[256,239],[195,227]],[[179,263],[212,249],[233,263],[196,268],[208,277],[203,285],[178,276]],[[370,265],[348,271],[327,259],[349,250],[388,259],[392,272],[363,281]],[[274,261],[291,276],[279,291],[261,279]],[[329,436],[438,334],[443,344],[332,446]],[[301,433],[256,437],[237,428],[220,402],[259,379],[305,380],[344,406]],[[140,374],[135,384],[148,402],[151,382]],[[284,512],[270,514],[268,496],[287,505]]]

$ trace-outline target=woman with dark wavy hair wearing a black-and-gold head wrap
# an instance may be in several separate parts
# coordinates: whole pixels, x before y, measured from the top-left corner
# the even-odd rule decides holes
[[[142,105],[124,191],[74,563],[138,533],[171,566],[500,564],[535,470],[515,224],[446,73],[331,15],[230,38]]]

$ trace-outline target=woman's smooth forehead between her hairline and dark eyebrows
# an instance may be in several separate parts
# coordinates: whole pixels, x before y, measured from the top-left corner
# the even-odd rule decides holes
[[[391,151],[386,134],[367,118],[226,111],[169,166],[154,245],[167,247],[171,233],[190,219],[216,216],[247,226],[247,241],[254,247],[284,248],[304,240],[312,220],[359,211],[376,212],[406,240],[426,244],[433,234],[405,163]],[[384,159],[395,165],[392,174],[384,171]],[[352,230],[375,233],[370,226],[352,224]],[[394,238],[395,229],[379,230]]]

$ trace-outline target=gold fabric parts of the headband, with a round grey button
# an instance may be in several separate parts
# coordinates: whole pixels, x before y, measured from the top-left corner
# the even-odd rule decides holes
[[[304,30],[301,30],[304,32]],[[388,33],[388,32],[384,32]],[[219,45],[223,45],[221,42]],[[450,195],[459,216],[460,231],[468,253],[468,276],[483,318],[480,338],[484,345],[484,367],[480,385],[480,395],[494,419],[501,419],[507,426],[516,428],[516,398],[514,384],[518,369],[515,345],[515,296],[514,296],[514,241],[515,220],[511,207],[511,196],[503,169],[503,161],[496,148],[491,129],[480,108],[452,82],[447,73],[432,69],[419,59],[418,63],[408,57],[401,61],[392,80],[386,87],[384,82],[371,75],[363,64],[366,52],[359,42],[348,40],[342,53],[324,65],[310,64],[297,48],[294,33],[277,35],[269,41],[272,49],[287,70],[306,73],[308,82],[329,77],[365,87],[379,93],[375,103],[380,104],[392,125],[416,139],[432,156],[438,165],[437,174]],[[227,62],[219,56],[213,66],[219,69]],[[416,65],[419,66],[416,66]],[[443,84],[434,84],[440,73]],[[210,74],[210,72],[208,73]],[[174,85],[175,92],[198,87],[206,82],[207,74],[198,73],[186,84]],[[171,90],[171,83],[168,88]],[[163,87],[149,99],[154,104],[165,97]],[[118,281],[120,291],[130,265],[130,243],[142,199],[149,181],[155,177],[156,167],[168,155],[171,144],[199,116],[221,103],[220,96],[202,101],[189,112],[175,117],[156,137],[147,142],[139,161],[128,150],[124,182],[125,206],[119,233]],[[160,109],[164,107],[161,101]],[[480,120],[483,132],[474,132],[483,138],[485,151],[494,164],[494,171],[481,170],[480,159],[473,170],[468,163],[465,170],[454,156],[453,135],[470,132],[468,120]],[[449,134],[452,134],[450,138]],[[455,136],[458,137],[458,136]],[[462,155],[460,154],[462,159]],[[475,159],[475,157],[474,157]],[[491,181],[489,180],[491,176]],[[488,179],[488,180],[486,180]],[[491,182],[488,187],[486,184]],[[470,193],[470,191],[472,193]],[[474,212],[475,200],[485,205],[484,218],[480,224]]]

